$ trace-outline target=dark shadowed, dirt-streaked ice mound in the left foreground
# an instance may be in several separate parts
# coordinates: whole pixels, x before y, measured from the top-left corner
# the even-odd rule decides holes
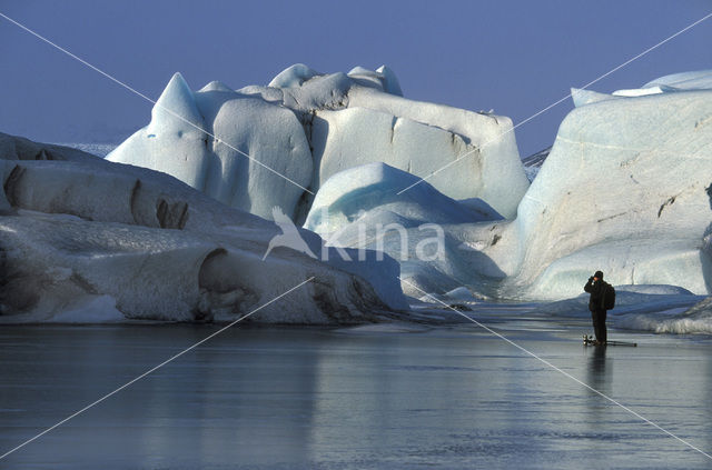
[[[115,321],[116,310],[131,319],[231,320],[309,277],[253,320],[350,323],[407,308],[388,257],[372,251],[358,261],[352,251],[353,261],[342,260],[300,230],[327,262],[279,247],[263,260],[279,233],[274,223],[169,176],[4,134],[0,143],[2,321]],[[106,296],[116,309],[105,308]]]

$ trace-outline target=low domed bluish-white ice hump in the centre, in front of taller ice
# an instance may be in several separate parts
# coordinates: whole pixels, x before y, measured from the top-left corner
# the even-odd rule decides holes
[[[385,163],[338,172],[317,193],[305,228],[330,246],[388,253],[400,262],[403,290],[414,298],[500,277],[477,250],[464,244],[462,232],[502,216],[482,200],[456,201],[427,182],[397,193],[416,181]]]

